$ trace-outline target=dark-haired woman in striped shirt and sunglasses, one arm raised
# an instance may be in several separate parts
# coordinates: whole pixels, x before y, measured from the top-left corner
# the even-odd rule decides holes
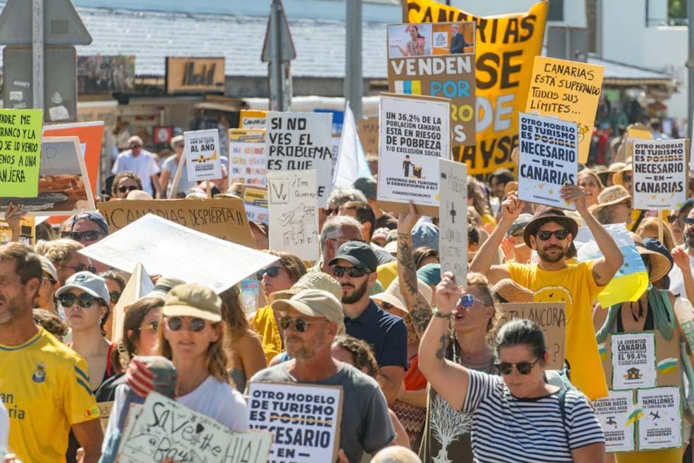
[[[455,410],[470,415],[474,461],[603,463],[605,437],[588,399],[545,382],[549,353],[540,327],[523,319],[505,324],[496,339],[501,376],[491,376],[443,357],[456,306],[486,309],[446,272],[419,343],[419,369]]]

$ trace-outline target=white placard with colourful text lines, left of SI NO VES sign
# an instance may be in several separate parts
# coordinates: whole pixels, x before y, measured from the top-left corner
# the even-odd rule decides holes
[[[229,182],[265,186],[265,129],[229,129]]]

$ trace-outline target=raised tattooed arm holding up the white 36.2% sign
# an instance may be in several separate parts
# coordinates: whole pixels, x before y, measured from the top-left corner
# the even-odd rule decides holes
[[[410,201],[410,213],[398,217],[398,281],[400,294],[410,312],[412,324],[417,336],[421,339],[431,319],[429,301],[417,289],[417,268],[412,255],[412,227],[419,220],[415,205]]]

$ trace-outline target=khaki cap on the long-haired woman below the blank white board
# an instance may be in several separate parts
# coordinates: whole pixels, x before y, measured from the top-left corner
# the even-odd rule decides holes
[[[222,300],[212,288],[179,284],[166,296],[164,317],[196,317],[213,323],[222,321]]]

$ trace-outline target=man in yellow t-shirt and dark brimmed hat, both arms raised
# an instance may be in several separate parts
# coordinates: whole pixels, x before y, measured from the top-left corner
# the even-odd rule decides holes
[[[536,210],[523,235],[526,245],[537,251],[539,264],[492,265],[501,240],[524,208],[515,194],[509,194],[502,203],[503,215],[498,226],[477,251],[470,271],[486,274],[491,283],[513,279],[533,291],[537,302],[562,300],[566,303],[566,358],[571,367],[572,383],[595,400],[607,396],[607,384],[595,341],[593,301],[622,266],[624,258],[605,227],[588,212],[583,188],[562,186],[561,194],[567,204],[575,203],[576,212],[591,229],[605,257],[567,264],[566,256],[573,246],[578,225],[563,210],[543,206]]]

